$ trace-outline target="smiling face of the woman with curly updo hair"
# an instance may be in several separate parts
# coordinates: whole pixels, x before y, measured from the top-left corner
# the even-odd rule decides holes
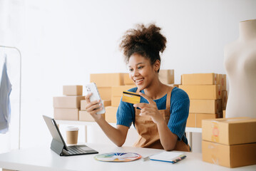
[[[157,71],[160,67],[159,61],[155,61],[155,63],[151,65],[150,59],[145,58],[138,53],[133,53],[129,58],[128,66],[130,79],[135,83],[139,90],[148,88],[158,79]]]

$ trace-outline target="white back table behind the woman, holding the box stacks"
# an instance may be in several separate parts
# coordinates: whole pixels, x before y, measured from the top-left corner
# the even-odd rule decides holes
[[[85,142],[87,142],[87,127],[88,125],[97,125],[96,122],[86,122],[86,121],[78,121],[78,120],[56,120],[57,124],[65,124],[65,125],[84,125],[85,128]],[[113,127],[116,127],[116,123],[109,123]],[[130,128],[134,128],[133,125]],[[185,128],[185,132],[187,133],[188,144],[192,147],[192,133],[202,133],[202,128]]]

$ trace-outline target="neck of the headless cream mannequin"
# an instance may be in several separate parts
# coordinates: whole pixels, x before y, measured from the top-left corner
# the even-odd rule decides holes
[[[256,19],[240,21],[239,33],[241,40],[256,38]]]

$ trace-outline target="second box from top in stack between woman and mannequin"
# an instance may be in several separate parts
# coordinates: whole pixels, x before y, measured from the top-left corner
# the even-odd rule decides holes
[[[188,93],[190,100],[217,100],[221,98],[222,92],[220,85],[209,86],[179,86]]]

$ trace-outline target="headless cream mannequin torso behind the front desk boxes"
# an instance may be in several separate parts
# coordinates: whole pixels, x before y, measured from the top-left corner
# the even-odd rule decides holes
[[[256,118],[256,19],[241,21],[239,33],[224,50],[230,81],[226,118]]]

